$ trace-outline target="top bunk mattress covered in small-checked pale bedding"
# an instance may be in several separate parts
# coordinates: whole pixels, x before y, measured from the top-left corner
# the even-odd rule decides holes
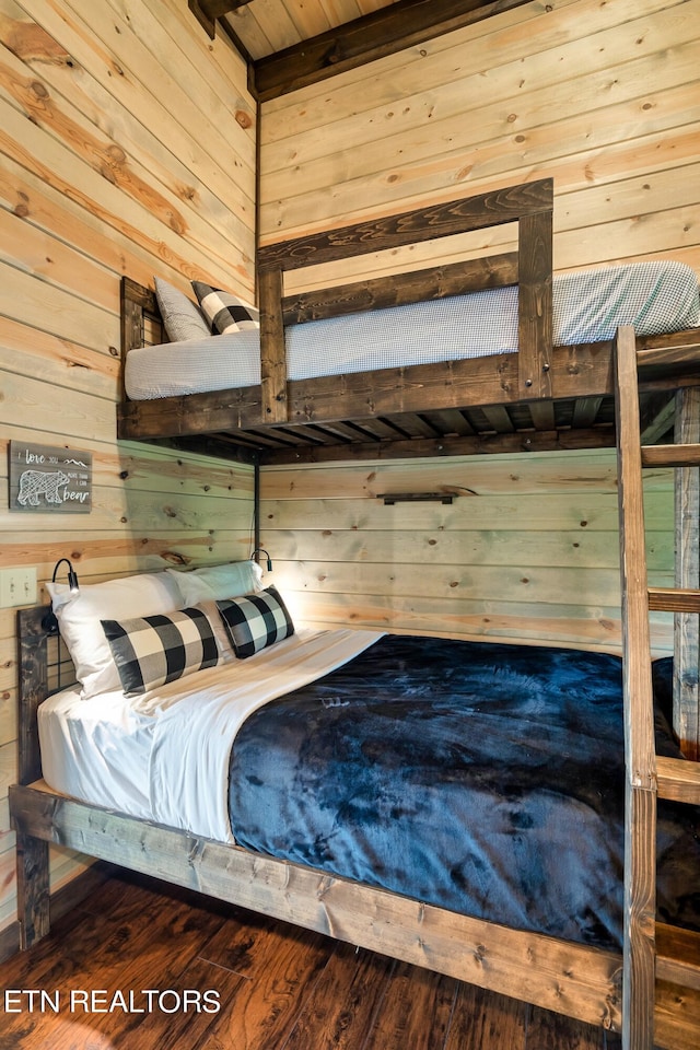
[[[611,339],[620,325],[639,336],[695,328],[698,278],[674,261],[557,275],[553,343]],[[288,378],[431,364],[517,351],[517,288],[368,311],[285,329]],[[125,386],[131,400],[256,386],[258,330],[130,350]]]

